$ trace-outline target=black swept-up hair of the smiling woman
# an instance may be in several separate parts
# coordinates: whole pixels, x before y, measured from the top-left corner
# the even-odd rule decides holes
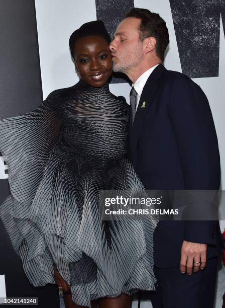
[[[110,43],[110,36],[101,20],[95,20],[83,24],[79,29],[75,30],[69,38],[69,48],[71,56],[74,58],[74,46],[77,40],[90,35],[99,35],[103,37],[106,42]]]

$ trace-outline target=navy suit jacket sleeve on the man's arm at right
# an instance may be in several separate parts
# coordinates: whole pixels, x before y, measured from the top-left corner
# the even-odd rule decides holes
[[[218,142],[205,94],[187,76],[180,74],[172,84],[167,110],[179,150],[185,190],[218,190]],[[216,221],[186,220],[184,240],[215,244],[215,228]]]

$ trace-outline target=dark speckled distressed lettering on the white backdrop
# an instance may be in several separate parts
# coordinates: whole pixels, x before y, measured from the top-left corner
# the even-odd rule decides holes
[[[168,1],[182,72],[190,78],[218,76],[220,15],[225,33],[225,0]],[[113,37],[117,25],[134,7],[134,0],[95,0],[95,4],[97,19]]]

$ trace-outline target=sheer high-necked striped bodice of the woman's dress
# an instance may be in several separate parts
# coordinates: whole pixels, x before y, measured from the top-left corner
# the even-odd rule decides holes
[[[62,145],[89,160],[126,154],[129,106],[124,98],[111,94],[108,84],[93,88],[82,81],[62,95]]]

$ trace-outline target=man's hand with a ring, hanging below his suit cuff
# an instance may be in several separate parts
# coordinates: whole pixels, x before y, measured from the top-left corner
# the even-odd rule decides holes
[[[183,241],[181,248],[181,259],[180,259],[180,271],[182,274],[192,274],[192,268],[194,264],[193,272],[197,272],[200,269],[204,269],[206,265],[206,244],[191,243]],[[194,263],[193,263],[194,262]]]

